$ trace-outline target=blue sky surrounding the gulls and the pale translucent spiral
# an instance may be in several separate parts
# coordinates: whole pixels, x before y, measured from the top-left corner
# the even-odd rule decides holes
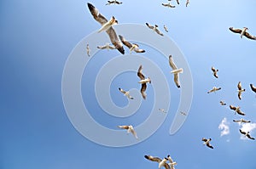
[[[187,8],[184,0],[180,0],[177,8],[160,5],[167,1],[122,2],[119,6],[105,6],[104,1],[90,1],[108,19],[114,15],[120,24],[155,23],[160,25],[161,31],[164,31],[162,26],[167,25],[169,32],[165,36],[177,44],[189,64],[194,95],[183,127],[169,135],[178,104],[176,98],[179,98],[171,76],[168,79],[173,98],[170,112],[150,138],[124,148],[106,147],[84,138],[67,117],[61,96],[61,78],[73,48],[100,28],[90,15],[88,2],[3,0],[0,3],[0,72],[3,78],[0,83],[0,168],[156,168],[157,164],[145,160],[143,155],[162,158],[168,154],[177,161],[176,168],[255,168],[255,141],[241,138],[241,127],[232,121],[241,116],[234,115],[218,102],[223,99],[227,104],[240,105],[247,114],[244,118],[256,123],[256,94],[249,88],[250,83],[256,85],[253,75],[255,42],[245,37],[241,39],[229,31],[230,26],[247,26],[248,32],[256,35],[253,22],[256,2],[190,0]],[[157,55],[152,51],[152,55],[147,55],[150,59]],[[103,62],[118,53],[101,51],[98,54],[106,58]],[[99,66],[94,67],[94,64],[96,60],[92,59],[89,72]],[[212,76],[212,65],[219,70],[218,79]],[[162,69],[170,71],[168,65]],[[104,115],[95,96],[87,99],[90,95],[86,93],[86,85],[93,83],[88,78],[88,71],[84,71],[81,83],[84,103],[95,111],[92,116],[96,121],[113,127],[118,119]],[[125,97],[114,92],[124,80],[122,76],[118,76],[111,87],[113,101],[119,106],[127,103]],[[131,79],[138,80],[137,76]],[[236,93],[240,81],[246,88],[241,100]],[[132,84],[125,87],[138,87],[137,83],[129,85]],[[207,94],[213,86],[222,87],[222,90]],[[127,120],[120,119],[122,123],[138,125],[147,118],[154,101],[150,99],[154,95],[153,87],[149,86],[147,93],[148,99],[139,112]],[[218,126],[224,118],[230,132],[221,137]],[[251,134],[256,137],[256,129]],[[203,146],[202,137],[212,138],[214,149]]]

